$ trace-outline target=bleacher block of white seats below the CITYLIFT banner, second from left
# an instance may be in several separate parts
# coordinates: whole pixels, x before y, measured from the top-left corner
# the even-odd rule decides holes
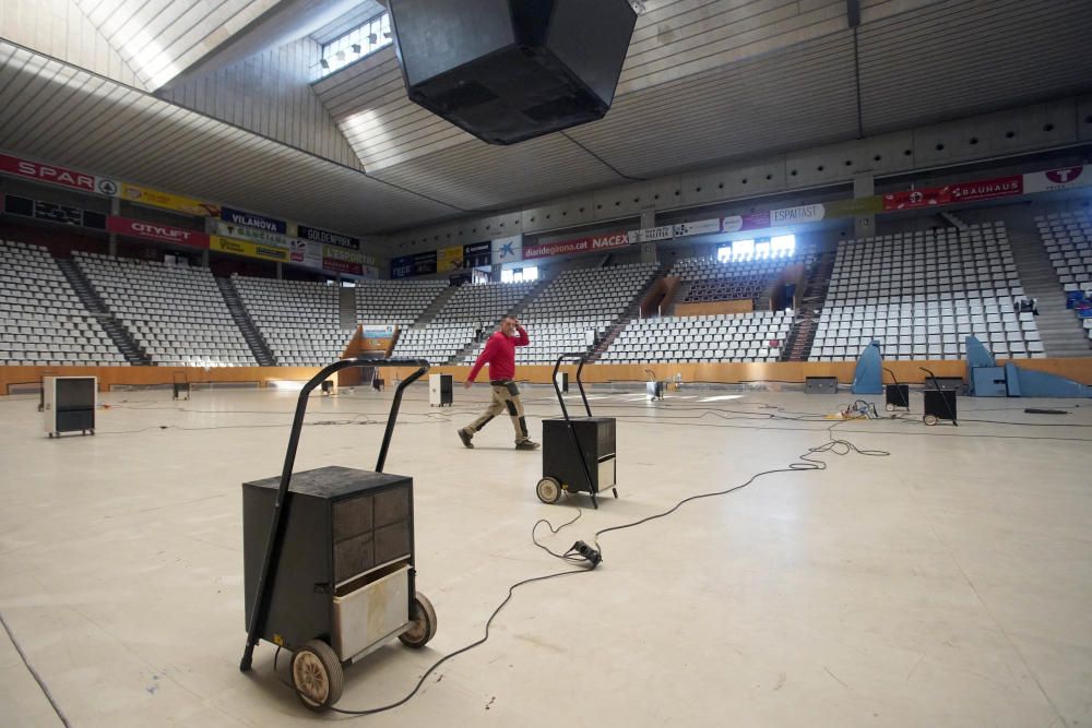
[[[257,366],[207,268],[81,252],[73,259],[153,363]]]

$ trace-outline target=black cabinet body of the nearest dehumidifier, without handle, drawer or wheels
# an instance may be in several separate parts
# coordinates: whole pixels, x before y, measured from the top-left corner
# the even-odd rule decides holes
[[[250,623],[280,477],[242,484],[244,592]],[[347,467],[292,476],[264,640],[294,649],[334,632],[333,598],[366,574],[413,564],[413,478]],[[385,568],[384,568],[385,566]],[[382,568],[382,569],[381,569]],[[410,570],[413,598],[413,570]],[[347,656],[345,656],[347,657]]]

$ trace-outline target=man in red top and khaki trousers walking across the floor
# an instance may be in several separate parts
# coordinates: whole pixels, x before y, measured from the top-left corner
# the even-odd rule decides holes
[[[478,356],[477,361],[471,369],[471,373],[463,382],[463,386],[470,389],[474,383],[482,367],[489,365],[489,384],[492,386],[492,402],[489,408],[476,420],[459,430],[459,439],[467,447],[473,447],[471,440],[489,420],[508,410],[512,418],[512,427],[515,429],[517,450],[536,450],[537,442],[532,442],[527,435],[527,420],[523,417],[523,403],[520,402],[520,389],[512,381],[515,379],[515,347],[526,346],[531,343],[527,338],[526,330],[520,325],[514,315],[507,315],[500,322],[500,331],[494,332],[485,348]]]

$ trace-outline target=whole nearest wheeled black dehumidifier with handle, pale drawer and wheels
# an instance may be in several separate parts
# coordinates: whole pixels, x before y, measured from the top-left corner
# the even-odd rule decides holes
[[[328,466],[293,473],[311,391],[347,367],[417,370],[394,392],[375,470]],[[413,478],[383,473],[402,395],[428,371],[419,359],[343,359],[300,390],[284,468],[242,484],[244,596],[251,668],[261,640],[292,653],[292,687],[307,707],[341,697],[343,665],[397,639],[423,647],[436,611],[416,590]]]

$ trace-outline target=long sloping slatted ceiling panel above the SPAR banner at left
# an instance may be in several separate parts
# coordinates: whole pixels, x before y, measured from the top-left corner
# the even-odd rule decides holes
[[[0,148],[357,235],[459,212],[11,44],[0,58]]]

